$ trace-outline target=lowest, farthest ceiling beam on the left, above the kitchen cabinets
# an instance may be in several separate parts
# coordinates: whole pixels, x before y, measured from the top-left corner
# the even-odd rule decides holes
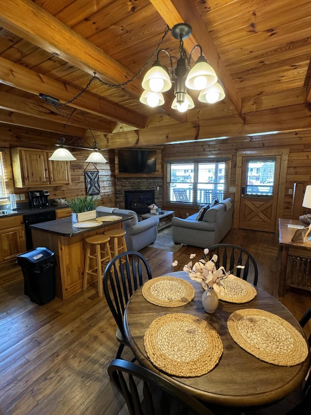
[[[19,114],[18,112],[6,111],[0,109],[0,123],[11,124],[14,126],[22,126],[28,128],[35,128],[38,130],[52,131],[56,133],[62,133],[64,125],[54,123],[52,121],[30,117],[29,115]],[[79,128],[75,126],[67,126],[66,134],[83,137],[85,128]]]

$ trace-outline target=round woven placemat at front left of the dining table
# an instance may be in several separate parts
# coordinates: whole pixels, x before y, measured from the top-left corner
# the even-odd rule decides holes
[[[183,313],[155,319],[144,335],[144,346],[155,367],[183,378],[210,372],[223,353],[216,330],[206,321]]]

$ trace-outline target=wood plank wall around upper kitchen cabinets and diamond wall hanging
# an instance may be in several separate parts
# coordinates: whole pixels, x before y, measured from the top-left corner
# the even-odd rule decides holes
[[[70,162],[71,184],[62,186],[45,185],[44,187],[27,187],[16,188],[14,186],[13,173],[11,168],[10,148],[23,147],[23,148],[40,148],[44,150],[54,150],[56,147],[54,143],[58,139],[58,134],[30,130],[22,127],[14,127],[14,129],[8,126],[0,126],[0,147],[4,148],[4,154],[6,159],[6,179],[7,189],[9,194],[25,194],[25,201],[28,201],[28,192],[30,190],[47,189],[50,192],[50,199],[54,198],[69,198],[72,196],[85,195],[86,194],[86,182],[84,169],[95,170],[92,163],[86,163],[85,160],[89,155],[87,150],[75,150],[72,152],[77,158],[76,161]],[[103,152],[104,158],[107,163],[97,163],[96,167],[100,172],[100,187],[101,187],[101,201],[100,204],[105,206],[115,206],[115,174],[114,174],[114,150],[107,150]],[[0,201],[0,205],[9,203],[9,200]],[[19,203],[19,202],[17,202]]]

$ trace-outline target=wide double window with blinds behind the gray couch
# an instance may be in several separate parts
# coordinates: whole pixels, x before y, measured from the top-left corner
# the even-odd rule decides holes
[[[228,189],[228,160],[167,162],[167,201],[197,205],[223,200]]]

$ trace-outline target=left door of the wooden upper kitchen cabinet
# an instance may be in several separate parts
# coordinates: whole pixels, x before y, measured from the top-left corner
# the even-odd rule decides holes
[[[23,184],[35,186],[48,184],[48,166],[46,152],[42,150],[20,150],[23,170]]]

